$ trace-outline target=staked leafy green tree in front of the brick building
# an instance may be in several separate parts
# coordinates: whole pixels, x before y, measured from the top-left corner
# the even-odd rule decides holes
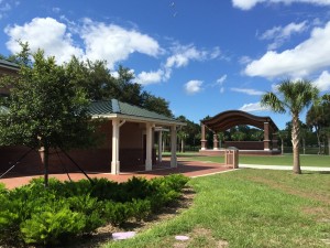
[[[54,57],[45,58],[43,51],[31,54],[23,46],[18,58],[19,76],[1,78],[12,88],[10,111],[0,116],[0,142],[43,149],[47,186],[50,149],[69,150],[92,143],[89,100],[75,84],[78,74],[56,65]]]

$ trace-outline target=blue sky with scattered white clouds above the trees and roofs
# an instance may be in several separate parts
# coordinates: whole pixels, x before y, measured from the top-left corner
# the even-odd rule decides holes
[[[260,107],[282,79],[330,91],[330,0],[0,0],[0,53],[16,41],[58,63],[76,55],[132,69],[143,88],[199,122]],[[305,115],[301,115],[305,121]]]

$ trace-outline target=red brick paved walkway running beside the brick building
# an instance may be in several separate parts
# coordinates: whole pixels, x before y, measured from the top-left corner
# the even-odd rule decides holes
[[[153,171],[140,171],[140,172],[122,172],[119,175],[112,175],[110,173],[96,173],[96,172],[87,172],[89,177],[106,177],[116,182],[125,182],[127,180],[133,176],[143,176],[146,179],[152,179],[156,176],[164,176],[174,173],[182,173],[186,176],[195,177],[202,176],[208,174],[220,173],[223,171],[230,171],[232,168],[213,162],[199,162],[199,161],[189,161],[187,158],[182,158],[178,161],[177,168],[169,168],[169,161],[163,161],[161,165],[154,166]],[[24,185],[29,183],[30,180],[34,177],[40,177],[43,175],[18,175],[18,174],[8,174],[4,179],[0,180],[0,183],[4,183],[7,188],[13,188],[16,186]],[[81,179],[86,179],[82,173],[69,173],[69,176],[73,181],[78,181]],[[51,174],[50,177],[56,177],[62,181],[67,181],[67,174]]]

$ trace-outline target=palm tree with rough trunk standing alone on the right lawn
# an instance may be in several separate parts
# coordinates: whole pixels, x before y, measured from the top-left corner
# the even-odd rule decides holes
[[[283,80],[278,85],[278,97],[275,93],[266,93],[262,96],[261,105],[270,107],[275,112],[289,111],[293,119],[292,142],[294,152],[294,173],[301,174],[299,159],[299,114],[304,108],[318,98],[319,90],[311,82]]]

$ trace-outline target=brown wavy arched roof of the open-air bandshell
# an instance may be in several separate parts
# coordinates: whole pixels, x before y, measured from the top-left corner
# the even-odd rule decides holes
[[[250,125],[260,129],[264,129],[264,123],[268,122],[270,131],[278,131],[277,126],[271,117],[258,117],[241,110],[229,110],[201,121],[206,127],[215,132],[226,131],[232,127],[240,125]]]

